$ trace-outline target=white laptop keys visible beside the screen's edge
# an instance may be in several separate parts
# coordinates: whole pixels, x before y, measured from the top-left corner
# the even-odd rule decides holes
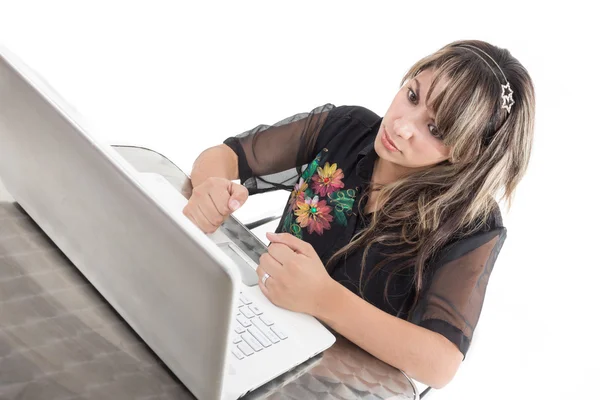
[[[242,293],[240,293],[233,326],[235,333],[232,353],[238,360],[243,360],[287,339],[285,332]]]

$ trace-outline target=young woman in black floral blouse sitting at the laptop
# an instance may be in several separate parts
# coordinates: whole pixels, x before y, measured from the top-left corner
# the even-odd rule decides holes
[[[383,118],[326,104],[204,151],[184,213],[214,232],[249,194],[290,190],[257,269],[265,296],[440,388],[477,325],[506,238],[495,198],[510,208],[534,112],[507,50],[453,42],[410,68]]]

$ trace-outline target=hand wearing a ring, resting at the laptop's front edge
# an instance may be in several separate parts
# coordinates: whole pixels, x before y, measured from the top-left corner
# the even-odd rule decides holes
[[[256,269],[260,289],[276,306],[314,316],[337,282],[311,244],[289,233],[267,233],[267,238],[269,251]],[[265,273],[270,277],[263,284]]]

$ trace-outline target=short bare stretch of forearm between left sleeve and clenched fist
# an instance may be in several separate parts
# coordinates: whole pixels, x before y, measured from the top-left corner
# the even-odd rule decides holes
[[[203,151],[192,167],[192,186],[196,187],[207,178],[239,179],[237,154],[225,144]]]

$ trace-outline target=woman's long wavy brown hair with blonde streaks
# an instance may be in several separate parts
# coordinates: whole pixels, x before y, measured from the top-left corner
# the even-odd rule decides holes
[[[483,50],[500,66],[513,90],[510,113],[502,108],[498,82],[506,83],[502,72],[485,54],[464,45]],[[436,115],[443,143],[452,152],[449,160],[393,183],[369,187],[370,193],[379,191],[370,224],[326,263],[329,268],[342,256],[364,249],[359,282],[363,298],[369,279],[384,265],[397,263],[385,285],[386,301],[390,303],[388,288],[394,275],[414,268],[416,302],[428,260],[452,239],[480,229],[498,207],[496,199],[507,202],[510,210],[529,163],[534,87],[527,70],[508,50],[478,40],[455,41],[414,64],[400,86],[427,69],[432,70],[433,80],[425,101]],[[447,84],[430,102],[431,93],[444,78]],[[393,252],[366,271],[367,254],[375,243]]]

